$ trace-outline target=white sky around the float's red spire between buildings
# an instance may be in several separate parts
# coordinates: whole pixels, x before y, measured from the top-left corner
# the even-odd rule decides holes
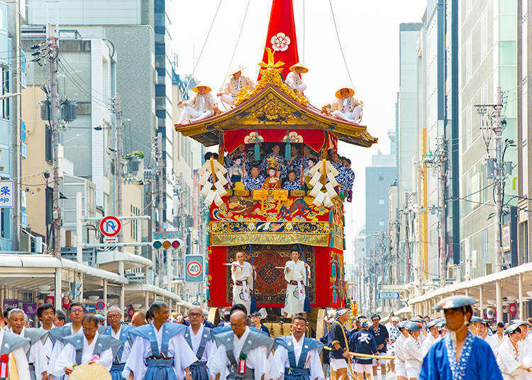
[[[340,86],[349,84],[327,0],[294,0],[299,59],[309,73],[304,82],[312,104],[321,107],[334,99]],[[207,40],[195,77],[214,91],[221,86],[243,21],[247,0],[224,0]],[[174,1],[174,51],[179,73],[190,74],[199,57],[218,0]],[[251,0],[232,65],[247,67],[244,74],[257,78],[262,60],[272,0]],[[399,89],[399,23],[421,22],[426,0],[333,0],[333,9],[358,96],[364,101],[362,124],[379,143],[371,149],[340,145],[340,154],[353,162],[357,174],[353,203],[346,203],[346,252],[353,252],[353,234],[365,219],[365,167],[377,148],[389,153],[387,130],[395,128],[395,100]],[[305,33],[303,19],[305,13]],[[305,37],[304,37],[305,34]],[[305,43],[303,41],[305,40]]]

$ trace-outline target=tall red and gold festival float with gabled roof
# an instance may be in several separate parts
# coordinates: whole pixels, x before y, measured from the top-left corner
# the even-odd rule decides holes
[[[273,1],[266,40],[255,89],[240,89],[233,108],[226,112],[174,128],[206,147],[218,145],[218,161],[205,162],[199,172],[201,194],[209,206],[209,306],[232,305],[227,263],[233,262],[236,252],[244,252],[245,261],[255,266],[251,308],[271,308],[270,314],[281,315],[287,289],[283,267],[297,247],[311,269],[306,295],[311,315],[316,316],[318,309],[343,307],[346,301],[347,194],[335,179],[338,171],[328,160],[328,151],[337,151],[338,141],[371,147],[377,138],[367,133],[365,125],[312,106],[301,91],[284,82],[288,68],[299,61],[291,0]],[[236,182],[231,189],[224,157],[244,145],[258,159],[261,147],[272,143],[282,145],[287,155],[292,146],[301,152],[306,145],[318,158],[309,176],[299,179],[300,188],[248,191]]]

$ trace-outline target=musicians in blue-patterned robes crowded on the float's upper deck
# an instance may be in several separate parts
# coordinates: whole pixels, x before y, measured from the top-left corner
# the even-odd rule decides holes
[[[235,184],[240,182],[248,191],[256,189],[308,190],[311,179],[309,171],[318,163],[318,155],[308,145],[291,144],[290,158],[286,160],[286,157],[280,154],[284,148],[284,143],[259,143],[258,157],[256,157],[254,144],[238,146],[234,152],[224,157],[228,188],[235,189]],[[208,161],[211,157],[217,160],[218,154],[207,152],[204,158]],[[328,160],[338,170],[335,179],[350,201],[355,181],[351,160],[339,156],[335,150],[328,151]]]

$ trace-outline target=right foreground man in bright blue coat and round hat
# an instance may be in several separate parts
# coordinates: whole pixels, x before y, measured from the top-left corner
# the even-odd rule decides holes
[[[503,379],[491,347],[467,329],[475,303],[470,296],[450,296],[433,308],[443,310],[450,333],[428,350],[419,380]]]

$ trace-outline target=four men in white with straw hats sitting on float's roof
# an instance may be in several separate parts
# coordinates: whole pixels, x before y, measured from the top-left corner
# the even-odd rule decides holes
[[[255,89],[255,82],[249,77],[243,75],[245,67],[235,67],[230,70],[228,81],[223,84],[218,90],[216,96],[219,97],[224,107],[231,109],[235,106],[235,99],[241,89]],[[294,91],[300,92],[304,95],[307,86],[301,79],[301,74],[309,72],[309,69],[297,63],[290,67],[290,73],[284,80],[287,86]],[[183,106],[183,111],[179,118],[178,125],[184,123],[194,123],[201,121],[211,116],[221,113],[218,107],[218,102],[213,94],[212,88],[204,83],[196,84],[192,87],[192,91],[196,94],[189,101],[179,101],[178,106]],[[318,110],[318,108],[311,108],[314,111],[321,112],[327,116],[338,118],[349,123],[360,123],[362,121],[362,101],[355,98],[355,90],[350,86],[341,87],[335,93],[336,99],[331,104],[326,104]]]

